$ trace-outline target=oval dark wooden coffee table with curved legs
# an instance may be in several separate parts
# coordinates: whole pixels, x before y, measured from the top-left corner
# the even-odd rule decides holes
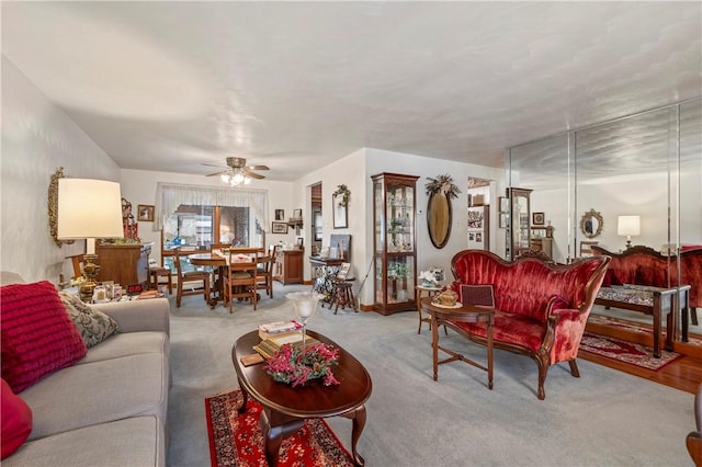
[[[316,379],[305,386],[293,388],[288,384],[273,380],[263,371],[263,364],[244,366],[241,357],[254,353],[253,345],[260,342],[258,331],[251,331],[239,338],[231,349],[231,362],[244,392],[240,411],[246,408],[247,396],[251,396],[263,407],[261,429],[269,466],[278,465],[282,441],[299,430],[305,419],[337,415],[353,421],[353,463],[363,466],[365,460],[356,452],[356,443],[365,426],[365,401],[371,397],[373,389],[371,376],[363,365],[340,345],[314,331],[308,330],[307,335],[339,349],[339,364],[333,366],[332,371],[340,384],[325,386],[321,379]]]

